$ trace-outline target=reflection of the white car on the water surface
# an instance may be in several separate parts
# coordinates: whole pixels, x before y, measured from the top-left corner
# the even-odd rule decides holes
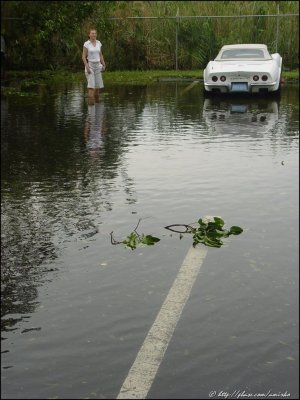
[[[275,131],[279,110],[276,99],[205,99],[203,117],[211,134],[260,136]]]

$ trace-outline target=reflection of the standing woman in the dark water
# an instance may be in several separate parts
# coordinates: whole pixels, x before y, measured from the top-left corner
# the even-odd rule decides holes
[[[84,128],[86,148],[90,154],[96,154],[102,147],[103,119],[105,113],[104,103],[88,105],[88,115]]]

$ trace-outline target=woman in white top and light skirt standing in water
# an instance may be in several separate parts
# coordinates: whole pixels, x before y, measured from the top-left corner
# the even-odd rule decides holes
[[[99,99],[99,91],[104,87],[101,72],[105,70],[105,61],[101,51],[102,44],[97,38],[96,29],[91,29],[89,40],[83,44],[82,61],[88,83],[89,102]]]

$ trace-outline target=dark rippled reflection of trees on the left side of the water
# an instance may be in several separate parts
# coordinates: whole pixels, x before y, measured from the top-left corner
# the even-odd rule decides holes
[[[127,110],[134,127],[135,102]],[[81,91],[65,88],[33,105],[1,99],[1,111],[4,333],[35,311],[38,287],[48,271],[57,270],[65,243],[84,241],[88,248],[95,240],[103,212],[113,208],[114,187],[128,204],[136,202],[136,194],[122,163],[127,132],[121,107],[108,115],[104,102],[86,110]]]

